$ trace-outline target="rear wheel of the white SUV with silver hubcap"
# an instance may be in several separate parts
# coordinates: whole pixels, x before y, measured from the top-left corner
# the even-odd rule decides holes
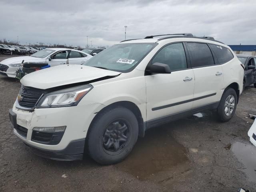
[[[230,102],[232,100],[232,102]],[[221,122],[229,121],[236,112],[237,95],[232,88],[227,88],[220,99],[217,114]],[[230,110],[229,110],[230,109]]]

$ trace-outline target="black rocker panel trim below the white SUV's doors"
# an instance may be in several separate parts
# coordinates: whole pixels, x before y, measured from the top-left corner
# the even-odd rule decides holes
[[[164,124],[166,122],[171,122],[171,121],[174,121],[174,120],[177,120],[180,118],[184,118],[189,115],[196,114],[202,110],[216,109],[216,108],[218,108],[218,105],[219,105],[219,102],[214,102],[214,103],[211,103],[208,105],[204,105],[204,106],[200,106],[200,107],[193,108],[190,110],[186,110],[184,112],[179,112],[179,113],[171,114],[171,115],[164,116],[161,118],[156,118],[153,120],[146,121],[146,122],[144,122],[144,130],[147,130],[154,126],[158,126],[160,124]]]

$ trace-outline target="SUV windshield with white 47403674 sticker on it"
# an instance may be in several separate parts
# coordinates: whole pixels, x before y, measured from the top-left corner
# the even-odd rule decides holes
[[[156,45],[156,43],[116,44],[100,52],[84,65],[118,72],[130,72]]]

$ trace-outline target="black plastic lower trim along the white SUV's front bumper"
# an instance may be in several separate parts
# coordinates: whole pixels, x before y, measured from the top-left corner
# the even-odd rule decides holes
[[[71,141],[63,150],[47,150],[32,146],[25,142],[24,144],[26,145],[26,148],[38,156],[52,160],[73,161],[82,160],[84,154],[85,138]]]

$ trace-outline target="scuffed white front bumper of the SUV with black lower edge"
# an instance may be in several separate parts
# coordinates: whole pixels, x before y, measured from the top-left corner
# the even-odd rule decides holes
[[[15,107],[16,102],[14,107],[9,110],[10,120],[14,125],[14,134],[39,156],[55,160],[82,158],[84,149],[82,141],[86,138],[88,128],[96,112],[104,108],[104,105],[94,103],[73,107],[36,108],[31,112],[17,109]],[[66,130],[58,144],[50,145],[33,141],[32,133],[34,127],[58,126],[66,126]],[[81,145],[79,153],[70,154],[70,152],[76,151],[77,148],[74,148],[73,141],[79,141]]]

